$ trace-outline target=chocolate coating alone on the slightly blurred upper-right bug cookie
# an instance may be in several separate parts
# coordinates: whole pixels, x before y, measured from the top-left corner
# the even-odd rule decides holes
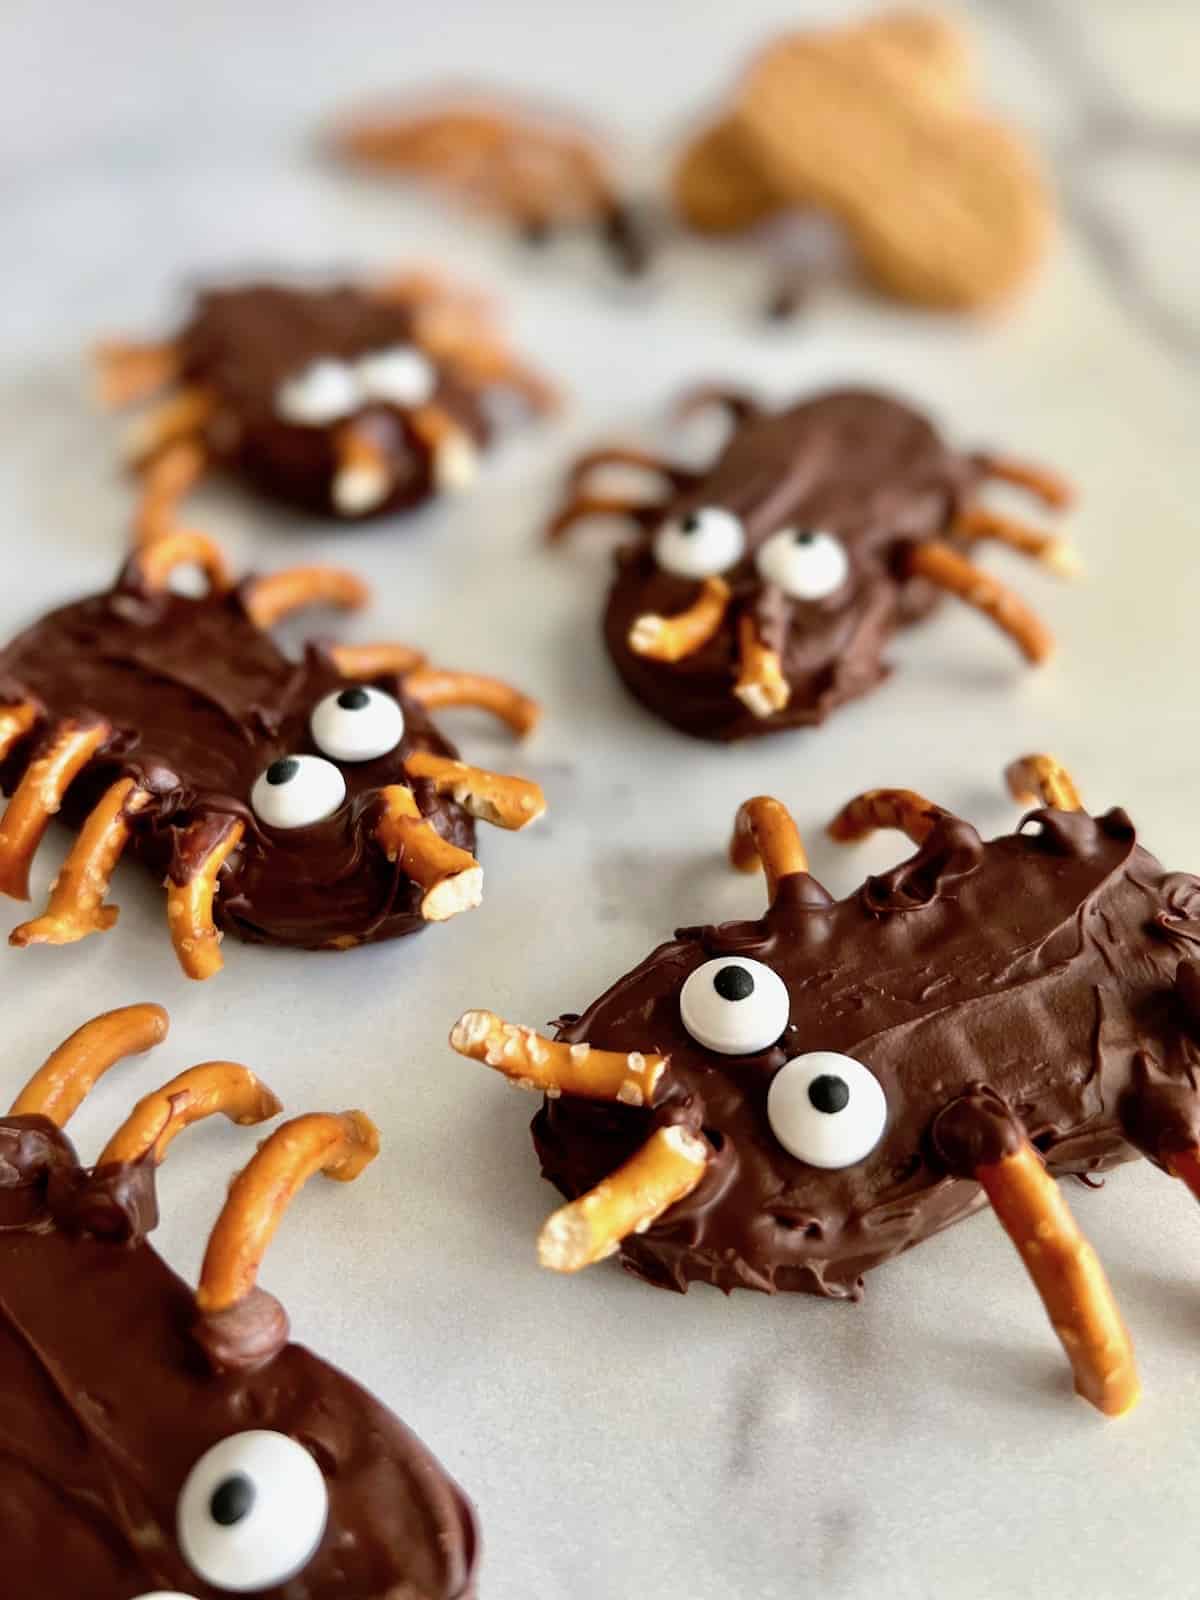
[[[888,395],[835,390],[750,416],[714,466],[662,510],[667,520],[720,506],[741,518],[746,557],[723,574],[733,590],[723,626],[678,662],[629,648],[640,616],[683,611],[698,590],[693,579],[658,566],[648,534],[618,557],[608,597],[605,638],[618,672],[643,706],[701,739],[747,739],[824,722],[888,675],[883,650],[891,635],[938,603],[928,582],[904,576],[906,550],[920,539],[947,538],[981,477],[926,418]],[[850,576],[827,600],[790,600],[758,576],[755,552],[782,528],[819,528],[842,539]],[[746,611],[779,653],[792,690],[789,704],[770,717],[755,717],[733,693],[738,616]]]

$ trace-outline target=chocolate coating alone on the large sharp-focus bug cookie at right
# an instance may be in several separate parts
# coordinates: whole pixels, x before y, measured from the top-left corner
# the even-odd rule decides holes
[[[837,902],[803,874],[784,878],[762,920],[682,930],[562,1019],[570,1042],[670,1056],[651,1109],[546,1101],[534,1144],[565,1195],[664,1123],[712,1150],[699,1187],[622,1243],[630,1272],[675,1290],[858,1294],[870,1267],[984,1203],[955,1173],[1003,1154],[1003,1115],[995,1141],[963,1149],[946,1110],[981,1082],[1054,1174],[1101,1171],[1163,1134],[1144,1061],[1155,1094],[1178,1102],[1171,1128],[1182,1107],[1182,1138],[1200,1128],[1200,1032],[1176,989],[1181,957],[1200,954],[1200,880],[1165,872],[1123,811],[1030,819],[1040,829],[982,843],[946,818],[912,859]],[[680,1021],[683,981],[717,955],[765,962],[787,986],[787,1029],[757,1056],[714,1054]],[[789,1155],[766,1117],[774,1074],[813,1050],[861,1061],[888,1101],[880,1142],[838,1171]]]

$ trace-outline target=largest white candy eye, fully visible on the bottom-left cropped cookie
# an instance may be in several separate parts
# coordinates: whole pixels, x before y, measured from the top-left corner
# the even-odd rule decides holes
[[[286,1434],[250,1429],[213,1445],[176,1507],[184,1560],[229,1594],[274,1589],[301,1571],[325,1533],[330,1496],[317,1462]]]

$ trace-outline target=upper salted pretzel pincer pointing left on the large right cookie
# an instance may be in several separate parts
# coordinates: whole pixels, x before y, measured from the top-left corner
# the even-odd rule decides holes
[[[494,1067],[520,1088],[622,1106],[651,1106],[669,1066],[667,1056],[640,1050],[594,1050],[592,1045],[542,1038],[494,1011],[466,1011],[450,1034],[450,1048]]]

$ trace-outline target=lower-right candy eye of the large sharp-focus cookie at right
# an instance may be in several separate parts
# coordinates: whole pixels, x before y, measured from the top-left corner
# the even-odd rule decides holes
[[[810,1166],[853,1166],[878,1144],[888,1102],[874,1072],[835,1050],[794,1056],[766,1091],[779,1144]]]

